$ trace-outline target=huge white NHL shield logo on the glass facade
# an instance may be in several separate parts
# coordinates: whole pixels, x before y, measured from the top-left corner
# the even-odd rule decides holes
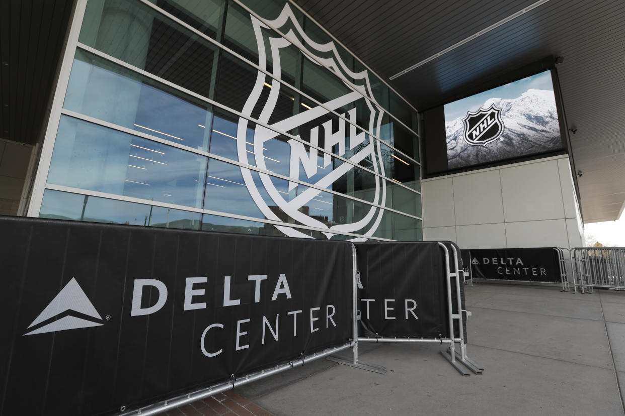
[[[332,185],[335,183],[347,183],[347,175],[352,175],[352,178],[362,175],[360,169],[354,170],[359,164],[384,175],[381,147],[371,137],[371,134],[380,131],[383,113],[372,94],[367,71],[352,72],[342,61],[334,42],[319,44],[309,38],[288,4],[272,21],[250,17],[258,47],[258,65],[272,76],[261,70],[257,72],[256,82],[241,113],[260,123],[254,124],[245,117],[239,117],[237,156],[239,162],[245,165],[286,177],[277,179],[274,175],[241,167],[242,177],[254,203],[265,218],[273,221],[276,228],[287,236],[312,238],[280,223],[316,228],[328,239],[336,235],[336,231],[372,236],[382,220],[381,208],[366,206],[357,215],[356,209],[352,211],[354,215],[342,215],[336,201],[344,198],[324,191],[334,190]],[[282,32],[285,37],[271,29]],[[306,65],[311,64],[322,71],[326,71],[323,69],[325,66],[341,74],[347,94],[322,102],[322,105],[311,100],[305,103],[304,98],[298,104],[292,89],[277,80],[282,74],[281,57],[289,57],[288,54],[293,51],[304,54]],[[284,103],[289,98],[297,110],[290,113],[294,115],[280,116],[284,114],[284,106],[279,107],[281,111],[277,109],[279,102],[282,100]],[[356,106],[359,108],[358,125],[365,126],[367,132],[346,121],[356,123]],[[344,118],[336,117],[331,110]],[[287,132],[301,140],[279,132]],[[353,164],[329,153],[344,157]],[[367,201],[385,206],[386,181],[371,173],[366,174],[374,177],[367,186]],[[311,183],[314,187],[301,182]],[[366,239],[355,237],[350,241]]]

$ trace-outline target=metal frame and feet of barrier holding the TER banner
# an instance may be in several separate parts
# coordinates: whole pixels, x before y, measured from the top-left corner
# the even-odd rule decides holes
[[[462,269],[459,268],[458,263],[458,250],[456,249],[455,244],[449,244],[452,249],[452,259],[450,258],[449,249],[447,246],[441,241],[438,242],[442,251],[445,254],[445,274],[446,274],[446,297],[447,297],[447,312],[448,312],[448,322],[447,325],[449,327],[450,336],[447,338],[411,338],[411,337],[357,337],[357,341],[359,342],[415,342],[415,343],[435,343],[435,344],[448,344],[449,349],[447,351],[441,351],[441,355],[445,357],[449,363],[460,372],[462,375],[469,375],[464,368],[459,365],[464,364],[469,370],[474,372],[474,374],[482,374],[484,372],[484,368],[480,365],[476,364],[474,361],[467,357],[467,347],[464,336],[464,322],[462,319],[462,313],[469,314],[466,310],[462,309],[462,299],[461,299],[461,283],[460,283],[460,275],[462,273]],[[453,266],[453,271],[451,271],[450,264]],[[452,301],[452,287],[455,287],[456,290],[456,302]],[[455,311],[455,312],[454,312]],[[355,315],[358,316],[358,315]],[[359,318],[359,316],[358,316]],[[454,325],[455,324],[455,325]],[[457,329],[457,331],[456,331]],[[357,331],[357,329],[354,329]],[[458,333],[456,337],[455,334]],[[457,351],[456,344],[458,345],[460,351]],[[332,359],[332,358],[329,358]],[[357,346],[354,348],[354,362],[357,361]]]

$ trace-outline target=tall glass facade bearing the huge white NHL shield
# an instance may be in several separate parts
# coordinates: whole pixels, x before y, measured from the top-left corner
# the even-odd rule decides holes
[[[289,2],[88,0],[64,93],[42,217],[422,239],[416,112]]]

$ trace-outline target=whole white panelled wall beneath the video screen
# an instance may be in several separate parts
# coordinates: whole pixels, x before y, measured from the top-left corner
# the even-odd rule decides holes
[[[567,156],[422,181],[424,239],[462,248],[580,247]]]

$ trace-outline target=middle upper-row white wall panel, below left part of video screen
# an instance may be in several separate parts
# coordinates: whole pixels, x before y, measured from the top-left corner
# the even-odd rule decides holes
[[[502,223],[499,170],[455,177],[454,208],[456,225]]]

